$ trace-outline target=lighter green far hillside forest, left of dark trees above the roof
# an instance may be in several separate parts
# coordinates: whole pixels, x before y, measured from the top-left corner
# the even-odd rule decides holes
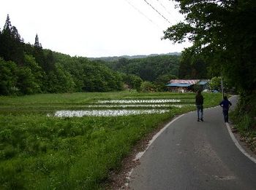
[[[179,55],[156,55],[146,58],[119,58],[112,62],[102,61],[102,64],[124,74],[124,83],[138,91],[143,81],[152,82],[154,90],[165,90],[165,84],[173,77],[177,78],[179,63]]]

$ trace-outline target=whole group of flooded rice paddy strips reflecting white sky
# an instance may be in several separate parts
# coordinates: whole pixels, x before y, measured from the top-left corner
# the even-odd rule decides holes
[[[176,104],[174,104],[176,103]],[[178,104],[177,104],[178,103]],[[98,100],[92,105],[85,105],[85,110],[60,110],[53,116],[128,116],[138,114],[164,114],[171,108],[192,106],[181,104],[179,99],[154,99],[154,100]],[[98,108],[98,109],[91,109]],[[87,109],[87,110],[86,110]],[[48,116],[50,116],[48,114]]]

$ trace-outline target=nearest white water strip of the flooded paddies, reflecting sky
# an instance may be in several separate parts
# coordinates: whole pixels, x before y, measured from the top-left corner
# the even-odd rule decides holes
[[[56,111],[54,116],[72,117],[72,116],[128,116],[138,114],[163,114],[169,112],[167,109],[148,109],[148,110],[87,110],[87,111]]]

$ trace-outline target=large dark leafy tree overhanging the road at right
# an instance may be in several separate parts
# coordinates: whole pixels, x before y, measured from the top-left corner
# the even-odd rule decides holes
[[[241,91],[256,87],[256,1],[176,0],[184,22],[170,26],[164,39],[192,41],[186,52],[211,63]],[[216,72],[217,73],[217,72]]]

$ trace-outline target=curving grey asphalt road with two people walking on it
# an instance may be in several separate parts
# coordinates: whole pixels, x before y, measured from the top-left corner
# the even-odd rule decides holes
[[[231,102],[236,105],[236,98]],[[222,108],[184,114],[149,146],[132,171],[130,189],[256,189],[256,164],[233,143]]]

